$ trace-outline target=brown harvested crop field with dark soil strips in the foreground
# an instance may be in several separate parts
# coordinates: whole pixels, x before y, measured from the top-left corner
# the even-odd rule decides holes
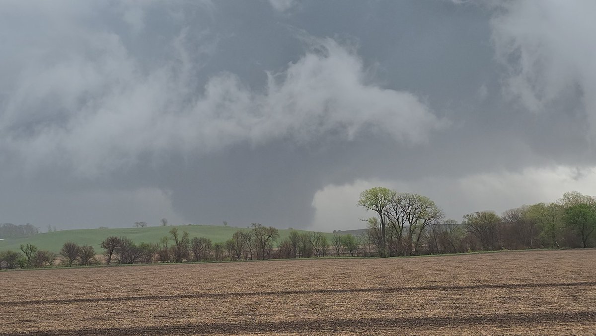
[[[596,335],[596,250],[1,272],[0,334]]]

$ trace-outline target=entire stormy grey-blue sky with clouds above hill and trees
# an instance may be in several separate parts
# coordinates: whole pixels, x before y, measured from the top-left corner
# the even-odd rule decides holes
[[[0,223],[364,227],[596,186],[594,1],[0,6]]]

